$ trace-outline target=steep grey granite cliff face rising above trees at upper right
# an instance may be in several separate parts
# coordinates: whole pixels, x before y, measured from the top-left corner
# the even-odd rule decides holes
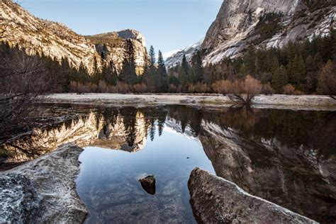
[[[271,13],[276,14],[270,23],[263,21]],[[293,40],[327,35],[336,27],[335,13],[332,1],[309,9],[303,0],[225,0],[201,46],[206,52],[204,63],[240,55],[249,45],[282,47]],[[274,21],[270,35],[265,35]]]

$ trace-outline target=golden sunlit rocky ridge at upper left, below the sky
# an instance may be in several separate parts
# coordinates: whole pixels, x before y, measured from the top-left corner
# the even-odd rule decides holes
[[[145,64],[145,37],[136,30],[83,36],[61,23],[36,18],[12,1],[0,1],[0,33],[3,34],[0,41],[17,45],[28,55],[45,55],[57,61],[65,58],[70,66],[78,69],[83,65],[89,73],[94,71],[95,64],[100,69],[110,62],[120,71],[125,41],[130,39],[135,48],[138,73]]]

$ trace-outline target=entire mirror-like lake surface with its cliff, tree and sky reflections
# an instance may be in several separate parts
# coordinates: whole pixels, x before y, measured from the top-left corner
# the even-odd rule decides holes
[[[115,215],[128,217],[115,220],[123,222],[143,217],[193,223],[186,181],[189,167],[196,165],[308,218],[336,220],[335,112],[188,106],[87,111],[9,142],[2,150],[11,155],[8,161],[25,161],[65,142],[86,147],[77,184],[79,195],[92,209],[89,222]],[[155,198],[142,195],[146,192],[138,179],[127,176],[143,170],[157,171],[147,173],[158,177]]]

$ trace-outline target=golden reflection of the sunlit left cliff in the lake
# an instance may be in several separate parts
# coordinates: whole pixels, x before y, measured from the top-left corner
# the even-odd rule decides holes
[[[142,113],[131,121],[118,114],[115,121],[107,121],[97,113],[89,113],[72,121],[44,130],[35,129],[31,135],[8,142],[4,150],[11,153],[7,162],[34,159],[59,145],[73,142],[80,147],[96,146],[113,150],[137,152],[145,147],[147,126]]]

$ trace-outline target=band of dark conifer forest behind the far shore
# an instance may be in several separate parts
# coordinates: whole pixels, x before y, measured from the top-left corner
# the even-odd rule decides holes
[[[13,73],[11,70],[22,64],[22,52],[24,50],[3,43],[1,57],[11,62],[11,66],[3,67],[1,72]],[[203,52],[196,51],[191,62],[184,57],[177,66],[166,69],[162,52],[156,57],[154,48],[150,47],[144,72],[140,75],[135,72],[134,54],[132,42],[127,41],[121,72],[118,73],[112,63],[102,63],[106,66],[95,68],[90,75],[84,65],[74,69],[65,59],[55,62],[43,55],[25,57],[38,64],[39,69],[34,71],[40,73],[36,82],[45,83],[43,91],[47,92],[223,93],[221,89],[225,86],[220,86],[220,80],[244,79],[250,74],[263,85],[264,94],[330,94],[323,89],[323,80],[330,79],[323,76],[335,77],[336,31],[282,48],[249,47],[242,57],[205,66]]]

